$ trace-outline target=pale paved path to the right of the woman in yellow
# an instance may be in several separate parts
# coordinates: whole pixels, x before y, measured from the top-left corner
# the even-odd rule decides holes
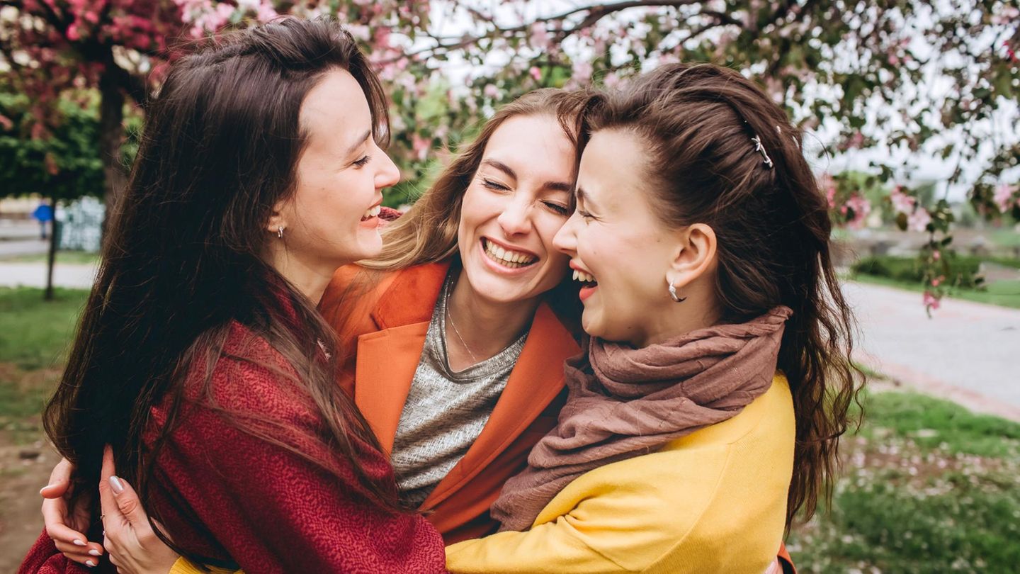
[[[1020,421],[1020,309],[848,283],[862,331],[859,361],[921,390]]]

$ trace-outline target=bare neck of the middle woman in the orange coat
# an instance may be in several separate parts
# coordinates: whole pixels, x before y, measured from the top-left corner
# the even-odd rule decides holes
[[[460,270],[447,313],[474,357],[483,361],[520,336],[534,319],[540,301],[538,296],[511,302],[488,300],[471,288],[467,275]],[[451,326],[447,327],[450,330]]]

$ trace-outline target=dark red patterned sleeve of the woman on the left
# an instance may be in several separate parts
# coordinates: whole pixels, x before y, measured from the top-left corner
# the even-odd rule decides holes
[[[392,515],[359,495],[350,463],[318,445],[317,419],[289,400],[280,391],[286,384],[243,361],[221,360],[213,377],[221,406],[284,423],[276,437],[340,476],[191,405],[158,464],[172,498],[183,498],[212,542],[248,571],[442,571],[439,533],[420,516]],[[366,455],[364,464],[379,480],[392,480],[381,455]],[[172,509],[167,516],[180,517]],[[166,526],[188,547],[194,528],[186,520]]]

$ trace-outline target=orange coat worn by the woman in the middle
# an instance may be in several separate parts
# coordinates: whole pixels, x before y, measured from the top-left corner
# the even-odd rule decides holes
[[[319,307],[347,351],[340,383],[388,451],[449,269],[447,261],[382,272],[363,292],[358,288],[363,282],[355,280],[361,268],[347,266],[322,295]],[[578,352],[570,331],[547,303],[540,304],[481,434],[422,503],[421,511],[448,544],[484,536],[498,526],[489,507],[503,483],[527,465],[531,446],[556,426],[565,397],[563,362]]]

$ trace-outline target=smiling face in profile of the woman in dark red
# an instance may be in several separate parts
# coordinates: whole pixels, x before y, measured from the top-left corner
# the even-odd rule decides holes
[[[372,139],[361,86],[345,69],[327,73],[305,98],[300,122],[308,142],[296,190],[269,231],[283,225],[288,252],[308,267],[336,269],[377,255],[381,190],[400,173]]]

